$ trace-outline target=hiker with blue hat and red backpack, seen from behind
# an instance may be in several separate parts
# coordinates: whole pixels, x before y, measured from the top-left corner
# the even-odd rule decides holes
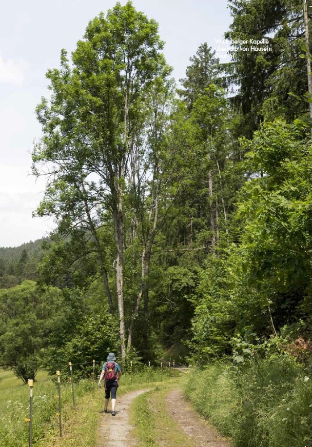
[[[119,379],[122,375],[120,365],[115,362],[116,357],[110,352],[107,361],[104,363],[99,379],[99,387],[101,388],[101,380],[104,377],[105,401],[104,413],[107,413],[109,396],[111,395],[111,415],[115,416],[116,392],[119,386]]]

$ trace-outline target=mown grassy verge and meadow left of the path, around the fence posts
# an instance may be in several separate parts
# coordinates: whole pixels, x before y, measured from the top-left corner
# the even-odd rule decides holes
[[[173,373],[172,373],[173,374]],[[68,381],[62,383],[62,437],[60,437],[59,417],[57,413],[57,384],[45,373],[37,376],[33,387],[32,443],[37,447],[93,447],[96,443],[97,428],[100,423],[100,411],[104,405],[104,390],[98,389],[89,379],[75,381],[75,407],[72,403],[71,387]],[[121,378],[118,397],[128,391],[149,388],[153,381],[164,384],[168,375],[161,377],[156,372],[146,375],[133,374]],[[62,382],[62,378],[61,378]],[[27,447],[29,438],[29,387],[11,372],[0,372],[0,447]]]

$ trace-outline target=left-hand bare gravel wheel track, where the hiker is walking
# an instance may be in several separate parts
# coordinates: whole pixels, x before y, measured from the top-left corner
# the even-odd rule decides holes
[[[129,408],[135,397],[147,391],[149,389],[136,390],[118,397],[115,408],[116,416],[112,416],[110,412],[103,413],[97,436],[97,447],[131,447],[135,445],[134,440],[129,439],[130,431],[133,429],[129,422]]]

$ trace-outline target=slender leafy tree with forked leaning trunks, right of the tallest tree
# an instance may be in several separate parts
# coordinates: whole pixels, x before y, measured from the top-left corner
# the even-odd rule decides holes
[[[141,247],[140,287],[136,294],[134,309],[129,323],[127,347],[131,347],[133,327],[143,299],[143,355],[148,350],[148,302],[149,270],[152,246],[155,235],[162,227],[173,197],[168,195],[168,184],[177,177],[172,159],[172,151],[166,143],[168,121],[173,100],[172,80],[166,79],[170,69],[160,73],[150,86],[145,100],[146,141],[137,148],[131,159],[131,178],[129,178],[129,198],[133,221],[131,237],[139,240]]]

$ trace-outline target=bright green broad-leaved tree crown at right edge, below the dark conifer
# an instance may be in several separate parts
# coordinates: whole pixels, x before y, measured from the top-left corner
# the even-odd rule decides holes
[[[309,142],[293,126],[268,123],[246,145],[248,166],[263,176],[255,175],[240,196],[244,270],[272,309],[284,315],[278,324],[285,324],[310,290]]]

